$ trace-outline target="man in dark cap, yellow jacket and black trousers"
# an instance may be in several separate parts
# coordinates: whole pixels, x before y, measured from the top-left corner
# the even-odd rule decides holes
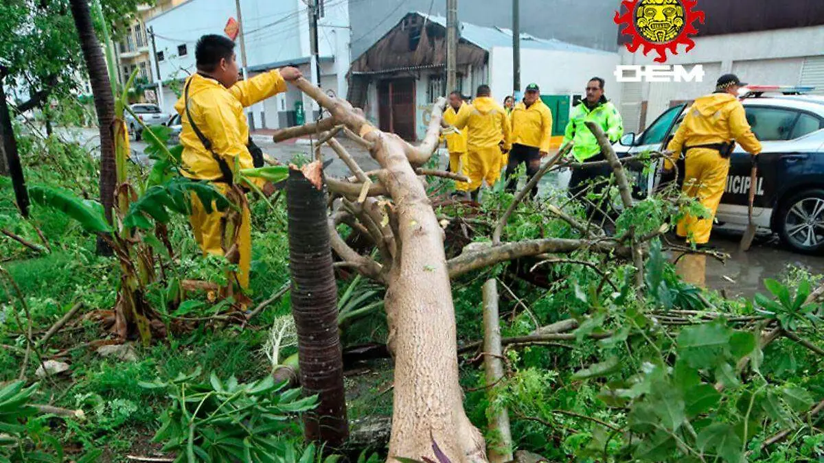
[[[515,105],[509,115],[513,125],[513,149],[509,152],[507,164],[507,191],[515,191],[517,178],[513,178],[515,170],[522,163],[527,165],[529,179],[538,173],[541,168],[541,157],[550,151],[552,137],[552,112],[541,101],[541,89],[537,84],[527,86],[523,101]],[[534,199],[538,194],[538,186],[532,188]]]

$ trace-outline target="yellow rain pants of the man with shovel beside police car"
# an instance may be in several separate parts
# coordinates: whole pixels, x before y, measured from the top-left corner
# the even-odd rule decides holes
[[[724,187],[727,185],[729,159],[721,157],[717,150],[694,148],[686,153],[686,168],[682,190],[708,208],[709,217],[687,215],[678,222],[678,236],[698,245],[709,242],[713,219],[718,211]]]

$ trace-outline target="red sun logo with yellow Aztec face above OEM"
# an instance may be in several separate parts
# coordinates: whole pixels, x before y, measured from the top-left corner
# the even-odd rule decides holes
[[[698,34],[693,23],[704,24],[704,12],[695,10],[697,3],[698,0],[623,0],[621,5],[626,12],[616,12],[615,21],[625,26],[621,34],[632,37],[626,49],[634,53],[643,46],[644,55],[655,50],[656,63],[667,62],[667,50],[678,54],[679,44],[690,51],[695,47],[690,36]]]

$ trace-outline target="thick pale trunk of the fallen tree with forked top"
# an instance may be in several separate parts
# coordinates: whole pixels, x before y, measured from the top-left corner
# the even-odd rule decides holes
[[[443,232],[412,166],[432,156],[446,101],[440,99],[435,105],[426,143],[415,148],[375,129],[351,105],[326,96],[306,79],[294,84],[330,110],[339,124],[374,143],[372,157],[383,168],[378,180],[394,201],[390,225],[398,251],[391,262],[384,305],[388,344],[395,355],[390,459],[434,460],[433,442],[437,442],[453,463],[486,461],[484,438],[463,409]]]

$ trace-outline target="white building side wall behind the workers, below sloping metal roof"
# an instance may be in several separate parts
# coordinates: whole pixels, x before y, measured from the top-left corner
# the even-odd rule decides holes
[[[494,47],[489,60],[492,94],[503,101],[503,96],[513,92],[512,48]],[[615,53],[521,49],[521,86],[535,82],[542,95],[581,95],[589,79],[597,76],[606,81],[606,97],[620,105],[621,85],[614,74],[619,63],[620,56]]]

